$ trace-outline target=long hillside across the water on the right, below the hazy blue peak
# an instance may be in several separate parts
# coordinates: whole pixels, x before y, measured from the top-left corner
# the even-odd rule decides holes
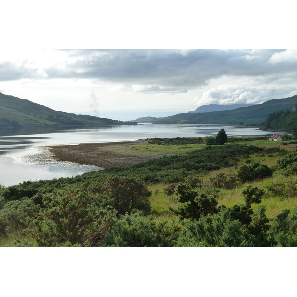
[[[291,110],[297,103],[297,95],[272,99],[262,104],[240,107],[233,110],[212,112],[187,112],[163,118],[142,117],[138,123],[154,124],[221,124],[221,125],[261,125],[269,114],[279,110]]]

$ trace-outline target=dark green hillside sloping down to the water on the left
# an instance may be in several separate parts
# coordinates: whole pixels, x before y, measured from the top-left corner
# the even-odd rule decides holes
[[[0,93],[0,127],[132,125],[91,115],[55,111],[26,99]]]

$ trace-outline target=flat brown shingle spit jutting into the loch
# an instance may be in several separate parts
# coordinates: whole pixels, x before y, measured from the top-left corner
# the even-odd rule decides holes
[[[143,150],[125,149],[139,141],[114,143],[87,143],[79,145],[56,145],[48,147],[57,159],[98,167],[130,166],[164,155]]]

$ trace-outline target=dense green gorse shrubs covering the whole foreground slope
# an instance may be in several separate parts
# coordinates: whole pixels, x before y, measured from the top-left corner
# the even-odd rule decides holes
[[[260,162],[263,156],[277,158],[275,165]],[[213,170],[219,171],[209,174]],[[183,156],[72,178],[1,187],[1,245],[296,247],[297,208],[280,209],[274,217],[267,217],[262,203],[270,196],[295,199],[296,173],[296,149],[289,152],[277,146],[235,143],[204,145]],[[260,186],[272,176],[284,179]],[[163,185],[170,219],[152,207],[152,198],[160,192],[159,188],[150,190],[154,185]],[[222,191],[237,191],[241,202],[224,205]]]

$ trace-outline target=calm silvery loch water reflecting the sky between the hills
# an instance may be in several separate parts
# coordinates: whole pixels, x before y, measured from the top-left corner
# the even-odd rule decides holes
[[[131,125],[96,129],[6,128],[0,129],[0,184],[11,186],[26,180],[71,177],[99,167],[55,161],[45,146],[130,141],[144,138],[216,136],[224,128],[228,136],[260,136],[273,132],[222,125]]]

